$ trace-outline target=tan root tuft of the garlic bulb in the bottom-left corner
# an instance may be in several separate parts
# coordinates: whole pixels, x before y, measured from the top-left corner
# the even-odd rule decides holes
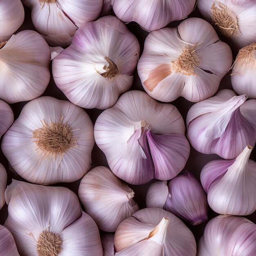
[[[61,252],[61,238],[49,231],[40,233],[36,251],[38,256],[58,256]]]

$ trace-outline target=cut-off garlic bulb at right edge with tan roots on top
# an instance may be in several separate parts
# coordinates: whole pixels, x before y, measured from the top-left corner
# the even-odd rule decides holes
[[[231,83],[234,91],[256,99],[256,43],[240,49],[232,68]]]

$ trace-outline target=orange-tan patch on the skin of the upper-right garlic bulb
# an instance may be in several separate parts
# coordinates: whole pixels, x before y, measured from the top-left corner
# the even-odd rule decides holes
[[[172,73],[170,64],[162,64],[156,67],[148,74],[148,79],[144,81],[144,86],[150,92],[153,92],[154,88]]]

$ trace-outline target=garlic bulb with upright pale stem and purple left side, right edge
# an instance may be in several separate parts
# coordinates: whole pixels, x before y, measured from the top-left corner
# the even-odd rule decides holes
[[[204,166],[201,182],[213,211],[249,215],[256,211],[256,162],[246,146],[235,160],[214,160]]]

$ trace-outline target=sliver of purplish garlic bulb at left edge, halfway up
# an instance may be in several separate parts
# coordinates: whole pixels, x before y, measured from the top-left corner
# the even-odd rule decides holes
[[[0,138],[11,126],[13,120],[14,116],[11,107],[4,101],[0,100]]]

